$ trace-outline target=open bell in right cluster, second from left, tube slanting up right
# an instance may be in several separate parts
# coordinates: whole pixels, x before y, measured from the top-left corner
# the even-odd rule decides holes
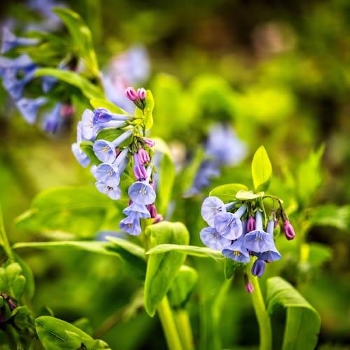
[[[221,212],[214,217],[214,226],[221,236],[227,239],[237,239],[242,235],[241,216],[246,211],[242,205],[235,214]]]

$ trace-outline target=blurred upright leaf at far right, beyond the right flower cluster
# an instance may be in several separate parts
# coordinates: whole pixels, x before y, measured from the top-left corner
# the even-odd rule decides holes
[[[321,186],[321,160],[324,146],[310,153],[307,160],[297,169],[297,199],[302,207],[307,207],[316,190]]]

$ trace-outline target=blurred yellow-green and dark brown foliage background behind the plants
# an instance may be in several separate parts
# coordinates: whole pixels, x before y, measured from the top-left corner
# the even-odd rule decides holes
[[[47,12],[34,10],[33,4]],[[260,145],[272,161],[276,176],[272,190],[287,203],[293,194],[283,181],[286,169],[293,179],[300,163],[324,145],[323,181],[310,206],[347,204],[349,1],[1,1],[1,23],[18,33],[39,23],[64,31],[59,20],[50,17],[52,4],[80,13],[92,31],[104,72],[113,73],[113,60],[135,45],[147,52],[144,59],[150,67],[141,72],[139,86],[153,92],[152,135],[167,141],[179,174],[200,157],[201,150],[204,152],[207,135],[216,123],[232,125],[244,143],[244,160],[223,167],[221,176],[202,192],[185,198],[182,194],[190,188],[180,186],[183,193],[174,194],[174,211],[169,218],[188,225],[191,244],[202,246],[198,234],[204,222],[198,216],[204,196],[219,184],[251,184],[250,162]],[[41,190],[93,183],[71,153],[80,116],[59,133],[45,134],[25,123],[2,87],[0,113],[0,202],[10,241],[42,240],[48,235],[51,239],[66,238],[62,232],[20,230],[14,219],[29,208]],[[298,176],[307,181],[309,172],[312,169],[303,169]],[[348,220],[344,216],[346,223]],[[326,247],[325,255],[316,267],[305,267],[302,276],[295,275],[300,269],[294,269],[291,248],[283,269],[272,267],[262,277],[263,284],[267,277],[283,273],[318,310],[322,318],[318,349],[350,349],[350,236],[346,223],[342,230],[312,225],[307,241]],[[23,250],[20,255],[34,272],[34,311],[48,306],[66,321],[87,317],[96,328],[141,288],[114,258],[68,251]],[[200,272],[188,304],[199,339],[204,332],[202,320],[224,281],[223,271],[221,265],[207,259],[192,258],[189,263]],[[102,339],[112,349],[164,349],[158,318],[136,309],[139,311],[130,318],[123,314]],[[239,273],[228,287],[221,310],[223,348],[253,349],[258,344],[258,325]],[[283,313],[275,316],[274,327],[281,328],[281,323]],[[202,349],[210,349],[210,342],[199,342]]]

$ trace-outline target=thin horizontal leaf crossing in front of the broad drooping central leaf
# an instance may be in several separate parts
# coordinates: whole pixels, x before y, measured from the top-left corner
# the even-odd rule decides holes
[[[179,244],[159,244],[147,251],[146,254],[160,254],[167,251],[179,251],[200,258],[213,258],[216,261],[221,261],[224,258],[221,251],[214,251],[214,249],[202,246],[181,246]]]

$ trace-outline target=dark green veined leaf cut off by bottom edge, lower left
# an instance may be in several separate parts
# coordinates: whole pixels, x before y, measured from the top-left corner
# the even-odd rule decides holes
[[[109,349],[102,340],[94,340],[90,335],[66,321],[51,316],[40,316],[35,320],[36,333],[46,350],[61,349]]]

